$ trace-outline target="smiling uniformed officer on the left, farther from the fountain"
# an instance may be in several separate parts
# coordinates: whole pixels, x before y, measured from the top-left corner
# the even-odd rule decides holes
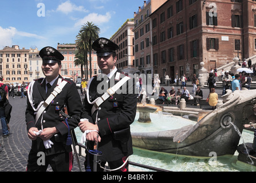
[[[45,78],[31,82],[27,94],[26,124],[28,137],[32,140],[27,171],[46,171],[48,165],[53,171],[70,171],[73,165],[72,148],[66,142],[69,130],[76,128],[80,121],[80,95],[75,83],[62,78],[59,74],[64,56],[58,50],[50,46],[44,47],[40,51],[40,57]],[[61,92],[54,96],[36,121],[36,113],[40,106],[61,82],[66,83]],[[71,117],[68,123],[60,118],[60,111],[64,106]],[[38,164],[38,152],[44,153],[45,162]]]

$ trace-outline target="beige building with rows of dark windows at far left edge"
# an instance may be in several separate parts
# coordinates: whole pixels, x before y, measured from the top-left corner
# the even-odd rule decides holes
[[[29,51],[19,49],[18,45],[6,46],[0,50],[0,75],[4,83],[29,82]]]

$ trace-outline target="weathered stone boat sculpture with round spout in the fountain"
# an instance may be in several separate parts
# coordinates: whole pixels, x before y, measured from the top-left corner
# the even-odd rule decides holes
[[[204,116],[197,124],[180,129],[151,133],[132,133],[133,146],[157,152],[209,157],[234,154],[243,124],[253,114],[256,90],[227,90],[223,104]]]

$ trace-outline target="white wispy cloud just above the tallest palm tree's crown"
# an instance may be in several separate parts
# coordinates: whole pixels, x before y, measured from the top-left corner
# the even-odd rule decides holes
[[[97,14],[97,13],[90,13],[86,17],[79,19],[75,23],[75,27],[82,26],[84,23],[93,22],[94,25],[101,25],[102,23],[107,23],[111,19],[111,13],[107,12],[105,15]]]

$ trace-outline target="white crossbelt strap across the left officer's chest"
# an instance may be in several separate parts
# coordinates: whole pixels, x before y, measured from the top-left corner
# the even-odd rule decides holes
[[[40,118],[42,112],[47,108],[47,106],[52,102],[52,100],[57,96],[57,94],[61,93],[63,87],[66,85],[67,81],[62,81],[60,85],[56,86],[50,96],[45,100],[44,104],[42,104],[41,108],[38,110],[36,114],[36,124],[38,119]]]

